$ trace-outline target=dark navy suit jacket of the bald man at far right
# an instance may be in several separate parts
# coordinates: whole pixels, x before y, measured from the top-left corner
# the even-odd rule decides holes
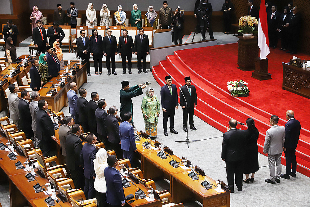
[[[300,135],[300,122],[296,119],[290,119],[285,124],[285,148],[296,149],[299,135]]]

